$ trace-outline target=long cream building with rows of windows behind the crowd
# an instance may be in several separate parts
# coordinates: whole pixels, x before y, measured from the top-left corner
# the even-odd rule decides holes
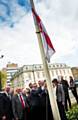
[[[69,81],[69,76],[73,77],[71,67],[66,64],[48,64],[51,80],[61,76]],[[43,65],[24,65],[12,77],[11,82],[13,87],[27,87],[30,82],[38,82],[39,80],[46,80],[46,75],[43,71]]]

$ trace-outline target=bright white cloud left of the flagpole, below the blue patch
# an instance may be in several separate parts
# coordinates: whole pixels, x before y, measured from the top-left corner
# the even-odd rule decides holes
[[[0,67],[6,65],[8,61],[19,65],[35,64],[35,61],[40,61],[38,41],[31,14],[21,19],[20,23],[13,28],[0,29],[0,43],[2,49],[0,54],[5,55]]]

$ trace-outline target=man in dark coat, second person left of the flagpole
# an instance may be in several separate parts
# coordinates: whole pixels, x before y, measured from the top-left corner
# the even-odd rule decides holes
[[[34,83],[29,96],[30,102],[30,120],[41,120],[41,101],[37,90],[37,84]]]

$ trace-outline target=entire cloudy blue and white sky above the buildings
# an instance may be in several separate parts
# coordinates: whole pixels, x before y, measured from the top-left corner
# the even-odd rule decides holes
[[[78,66],[78,0],[34,0],[56,53],[51,63]],[[27,0],[0,0],[0,68],[42,64],[34,21]]]

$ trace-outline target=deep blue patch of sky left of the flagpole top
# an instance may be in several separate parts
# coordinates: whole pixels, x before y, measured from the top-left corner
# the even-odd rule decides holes
[[[29,11],[28,0],[0,0],[0,25],[13,27]]]

